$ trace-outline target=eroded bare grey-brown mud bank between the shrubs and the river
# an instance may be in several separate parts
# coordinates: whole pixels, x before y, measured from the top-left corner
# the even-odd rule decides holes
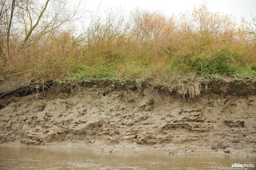
[[[255,87],[224,84],[188,100],[151,88],[98,86],[77,88],[72,95],[54,87],[44,99],[2,108],[0,143],[256,156]]]

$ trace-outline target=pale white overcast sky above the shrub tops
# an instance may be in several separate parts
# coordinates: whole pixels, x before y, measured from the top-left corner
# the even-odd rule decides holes
[[[82,0],[84,1],[84,0]],[[100,5],[100,9],[124,7],[125,11],[132,11],[134,8],[158,10],[166,16],[173,13],[178,15],[186,10],[192,11],[194,5],[199,6],[203,0],[86,0],[86,9],[96,11]],[[244,16],[245,20],[251,19],[251,12],[256,15],[256,0],[205,0],[210,11],[223,12],[224,14],[232,14],[237,21]]]

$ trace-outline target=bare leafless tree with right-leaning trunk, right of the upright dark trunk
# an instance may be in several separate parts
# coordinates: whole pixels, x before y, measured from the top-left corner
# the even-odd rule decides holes
[[[37,34],[31,39],[34,42],[38,41],[42,36],[50,34],[65,23],[76,21],[83,14],[80,2],[70,11],[67,8],[66,0],[47,0],[42,10],[37,9],[38,4],[34,2],[28,3],[28,0],[24,6],[30,24],[26,24],[26,19],[24,19],[26,36],[23,40],[23,45],[27,43],[36,27],[38,27]],[[33,18],[33,16],[35,17]],[[34,23],[34,21],[36,22]],[[28,28],[28,25],[30,28]]]

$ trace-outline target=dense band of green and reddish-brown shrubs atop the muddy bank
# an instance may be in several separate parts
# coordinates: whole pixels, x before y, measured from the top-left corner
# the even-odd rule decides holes
[[[49,3],[53,3],[51,7],[56,5]],[[254,16],[251,22],[237,24],[228,15],[210,12],[204,4],[179,17],[140,10],[125,16],[122,11],[108,10],[105,18],[92,15],[90,25],[77,35],[75,29],[65,29],[64,25],[63,29],[55,29],[54,20],[50,23],[54,29],[46,27],[47,10],[42,18],[31,18],[39,16],[29,14],[39,4],[31,5],[21,9],[14,6],[14,14],[15,10],[23,10],[24,14],[13,19],[21,17],[24,24],[15,25],[11,20],[12,36],[0,32],[0,83],[52,79],[58,85],[78,85],[102,80],[111,82],[109,90],[125,84],[128,89],[148,85],[183,97],[196,97],[212,80],[255,81]],[[7,13],[11,9],[6,8]],[[60,16],[68,15],[56,14],[57,18]],[[6,30],[4,21],[10,17],[0,18],[1,30]],[[40,21],[36,31],[32,24],[28,35],[28,23],[36,19]],[[72,20],[60,17],[57,24],[62,23],[61,19],[63,23]],[[25,31],[14,34],[17,28]]]

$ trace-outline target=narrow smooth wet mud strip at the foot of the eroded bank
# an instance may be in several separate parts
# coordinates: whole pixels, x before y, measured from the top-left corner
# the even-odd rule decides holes
[[[103,152],[109,154],[115,153],[127,153],[127,154],[149,154],[149,155],[214,155],[214,156],[235,156],[235,157],[255,157],[255,153],[250,153],[241,150],[234,150],[229,153],[224,151],[210,150],[208,147],[193,146],[189,144],[154,144],[154,145],[142,145],[137,143],[121,142],[117,144],[106,144],[101,141],[95,141],[94,143],[84,143],[82,141],[77,142],[52,142],[45,145],[27,145],[22,144],[19,141],[0,143],[0,147],[36,147],[42,149],[74,149],[76,151],[92,151]]]

